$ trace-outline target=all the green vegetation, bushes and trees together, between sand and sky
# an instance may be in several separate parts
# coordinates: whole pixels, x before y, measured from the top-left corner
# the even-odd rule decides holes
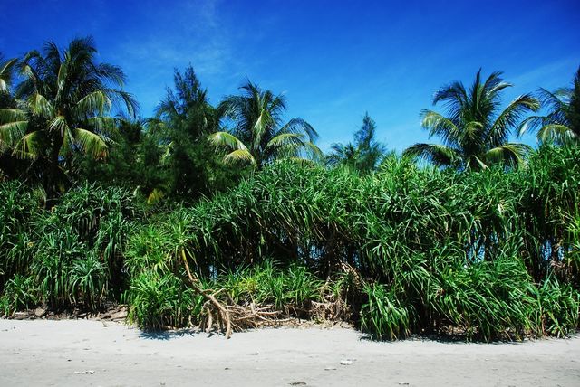
[[[500,109],[510,85],[478,72],[438,91],[447,117],[423,112],[445,145],[398,156],[367,114],[324,156],[283,97],[248,81],[215,108],[192,68],[137,118],[95,52],[0,60],[0,315],[124,303],[148,329],[221,310],[235,329],[344,320],[379,339],[578,327],[577,75],[565,99]],[[525,115],[541,102],[546,116]]]

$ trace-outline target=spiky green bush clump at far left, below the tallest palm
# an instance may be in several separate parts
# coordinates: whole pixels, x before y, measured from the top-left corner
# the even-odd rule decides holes
[[[131,194],[82,184],[50,211],[15,182],[0,184],[0,195],[7,204],[0,212],[3,284],[14,275],[34,280],[50,307],[97,308],[121,295],[127,280],[121,250],[138,213]]]

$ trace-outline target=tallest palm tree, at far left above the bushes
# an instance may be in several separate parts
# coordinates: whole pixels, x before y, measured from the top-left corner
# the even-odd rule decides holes
[[[15,92],[18,108],[0,109],[0,142],[15,156],[47,164],[47,184],[74,152],[107,155],[118,124],[110,116],[113,107],[132,116],[137,109],[121,90],[121,69],[97,63],[96,53],[92,38],[74,39],[64,51],[47,42],[42,54],[28,52],[19,63],[24,80]]]

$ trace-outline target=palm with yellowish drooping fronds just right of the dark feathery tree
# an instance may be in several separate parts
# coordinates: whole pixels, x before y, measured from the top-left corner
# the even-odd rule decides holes
[[[282,125],[284,96],[260,90],[249,80],[240,89],[243,95],[229,96],[218,107],[234,127],[209,137],[215,146],[228,150],[225,163],[242,162],[261,168],[280,158],[303,161],[321,155],[314,145],[318,134],[304,119],[292,118]]]

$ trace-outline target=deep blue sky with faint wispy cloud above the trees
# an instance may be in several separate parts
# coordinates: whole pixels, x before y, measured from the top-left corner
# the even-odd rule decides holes
[[[580,65],[580,1],[0,0],[0,52],[92,35],[152,114],[191,63],[212,103],[249,78],[284,92],[319,145],[346,142],[368,111],[402,150],[427,141],[421,108],[451,80],[505,71],[506,94],[568,86]],[[439,109],[439,108],[436,108]],[[437,142],[437,139],[432,139]]]

